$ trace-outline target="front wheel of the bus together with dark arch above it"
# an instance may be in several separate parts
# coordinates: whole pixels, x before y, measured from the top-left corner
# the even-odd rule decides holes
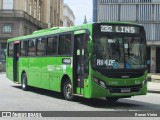
[[[68,101],[74,100],[73,86],[71,83],[71,79],[69,78],[68,75],[64,75],[62,77],[61,92],[63,93],[63,96],[66,100],[68,100]]]

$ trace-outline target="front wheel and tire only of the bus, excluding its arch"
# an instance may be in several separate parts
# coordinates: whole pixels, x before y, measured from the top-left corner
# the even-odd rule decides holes
[[[66,80],[63,85],[63,95],[64,95],[64,98],[68,101],[74,100],[73,90],[72,90],[72,85],[70,80]]]

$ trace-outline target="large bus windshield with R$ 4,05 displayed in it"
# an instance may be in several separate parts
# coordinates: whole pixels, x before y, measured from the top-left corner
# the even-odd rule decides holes
[[[92,65],[105,69],[145,69],[145,51],[146,44],[142,36],[96,36]]]

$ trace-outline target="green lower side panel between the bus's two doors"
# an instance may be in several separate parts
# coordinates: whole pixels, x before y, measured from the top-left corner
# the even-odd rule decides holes
[[[19,79],[25,71],[29,86],[60,92],[63,75],[67,74],[72,80],[72,67],[71,65],[62,65],[62,58],[70,57],[20,57]]]

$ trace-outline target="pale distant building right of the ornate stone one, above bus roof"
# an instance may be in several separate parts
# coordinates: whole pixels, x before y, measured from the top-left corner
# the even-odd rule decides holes
[[[63,6],[63,26],[69,27],[73,26],[75,23],[75,16],[73,11],[69,8],[67,4],[64,4]]]

